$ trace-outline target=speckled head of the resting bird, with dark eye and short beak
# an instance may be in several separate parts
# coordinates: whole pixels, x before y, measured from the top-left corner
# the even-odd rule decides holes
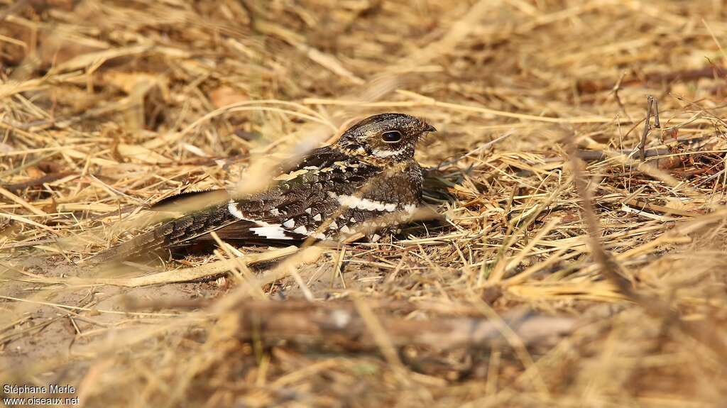
[[[337,147],[361,157],[384,163],[400,163],[414,158],[414,146],[434,126],[402,113],[369,116],[348,128]]]

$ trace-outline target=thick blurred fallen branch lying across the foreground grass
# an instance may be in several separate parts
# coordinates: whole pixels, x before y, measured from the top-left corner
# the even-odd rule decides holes
[[[371,351],[377,341],[353,303],[246,301],[239,304],[236,333],[242,340],[294,340]],[[427,346],[438,350],[506,344],[496,322],[475,317],[410,320],[376,309],[383,332],[393,346]],[[523,343],[531,344],[572,332],[577,320],[538,316],[528,311],[506,314],[505,323]]]

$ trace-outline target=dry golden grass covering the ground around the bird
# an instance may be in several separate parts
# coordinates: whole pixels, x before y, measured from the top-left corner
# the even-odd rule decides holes
[[[0,7],[0,383],[88,407],[723,404],[722,1]],[[254,267],[293,251],[79,263],[150,203],[382,111],[438,128],[418,158],[446,221]]]

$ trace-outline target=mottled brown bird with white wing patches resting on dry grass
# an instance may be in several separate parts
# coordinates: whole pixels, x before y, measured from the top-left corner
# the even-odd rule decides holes
[[[162,248],[211,242],[342,241],[364,234],[377,242],[411,219],[422,204],[422,167],[417,142],[436,129],[422,118],[380,113],[350,126],[337,142],[310,150],[294,166],[279,166],[261,192],[225,189],[168,197],[209,200],[197,211],[133,237],[89,258],[121,260]]]

